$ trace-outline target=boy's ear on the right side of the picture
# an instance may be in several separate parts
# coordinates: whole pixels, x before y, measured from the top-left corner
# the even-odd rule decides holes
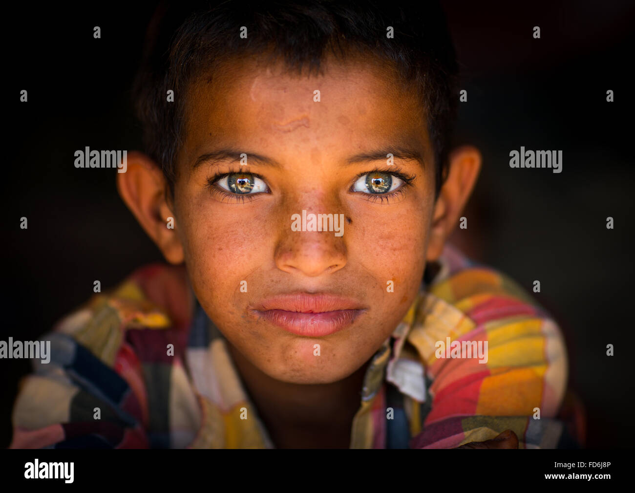
[[[467,199],[474,189],[480,170],[481,152],[476,147],[464,145],[451,152],[448,178],[434,204],[426,252],[428,262],[438,259],[441,255],[443,245],[457,225]]]

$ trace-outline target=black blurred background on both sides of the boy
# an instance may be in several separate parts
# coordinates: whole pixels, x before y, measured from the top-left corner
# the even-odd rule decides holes
[[[468,229],[453,241],[528,290],[540,280],[538,301],[565,333],[587,447],[632,446],[634,4],[443,4],[468,95],[457,143],[478,145],[484,159]],[[162,259],[117,196],[116,171],[76,169],[73,155],[86,145],[141,149],[130,86],[154,6],[13,8],[3,31],[10,161],[0,340],[25,341],[86,301],[94,280],[104,290]],[[609,89],[615,102],[606,102]],[[562,173],[511,169],[509,152],[521,145],[561,149]],[[0,361],[0,447],[10,443],[11,407],[29,369],[25,360]]]

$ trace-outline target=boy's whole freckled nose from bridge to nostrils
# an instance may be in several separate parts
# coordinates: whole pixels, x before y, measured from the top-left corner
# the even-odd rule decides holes
[[[336,194],[301,187],[284,201],[276,265],[288,273],[319,276],[346,264],[344,208]]]

